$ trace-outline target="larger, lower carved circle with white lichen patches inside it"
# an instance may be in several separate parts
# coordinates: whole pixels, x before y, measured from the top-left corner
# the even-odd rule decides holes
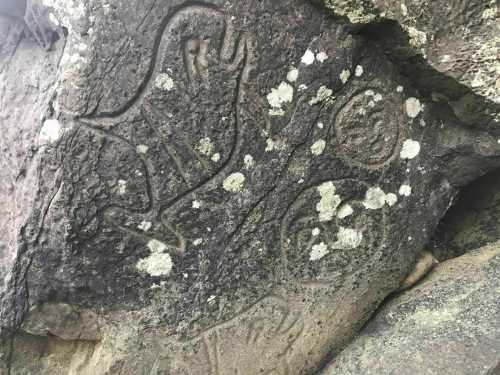
[[[370,259],[384,242],[387,206],[367,209],[368,190],[346,179],[299,194],[281,225],[286,275],[303,284],[329,284]]]

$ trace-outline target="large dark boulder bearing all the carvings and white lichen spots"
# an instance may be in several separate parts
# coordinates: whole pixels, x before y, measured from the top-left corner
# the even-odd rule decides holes
[[[4,372],[314,373],[500,166],[495,98],[317,2],[30,4],[67,37],[2,18]]]

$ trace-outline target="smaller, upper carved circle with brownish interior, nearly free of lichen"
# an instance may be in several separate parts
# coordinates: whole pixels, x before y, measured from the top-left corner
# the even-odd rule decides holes
[[[402,99],[376,89],[354,94],[334,116],[341,155],[377,167],[397,154],[402,123]]]

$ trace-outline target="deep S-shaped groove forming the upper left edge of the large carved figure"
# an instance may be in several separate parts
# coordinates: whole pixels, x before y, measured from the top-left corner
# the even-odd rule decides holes
[[[202,3],[198,1],[193,1],[189,5],[183,4],[179,7],[174,8],[173,12],[167,16],[159,30],[158,34],[155,38],[154,46],[153,46],[153,55],[151,57],[151,63],[149,65],[149,69],[146,73],[146,76],[142,83],[139,85],[139,88],[132,96],[132,98],[125,104],[123,104],[120,108],[110,112],[102,112],[99,114],[91,114],[89,116],[82,116],[81,118],[116,118],[123,114],[125,114],[130,108],[134,107],[138,102],[141,101],[142,98],[146,96],[152,86],[152,78],[155,73],[160,72],[161,65],[163,61],[163,56],[165,55],[165,51],[167,49],[167,45],[169,43],[170,33],[168,30],[177,22],[178,18],[182,17],[184,14],[193,14],[193,13],[201,13],[206,14],[207,12],[213,13],[214,15],[220,17],[223,16],[223,13],[212,4]]]

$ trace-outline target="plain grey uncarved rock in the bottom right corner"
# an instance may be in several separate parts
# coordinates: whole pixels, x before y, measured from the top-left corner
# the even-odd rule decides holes
[[[322,374],[500,374],[499,327],[497,242],[439,264],[385,304]]]

